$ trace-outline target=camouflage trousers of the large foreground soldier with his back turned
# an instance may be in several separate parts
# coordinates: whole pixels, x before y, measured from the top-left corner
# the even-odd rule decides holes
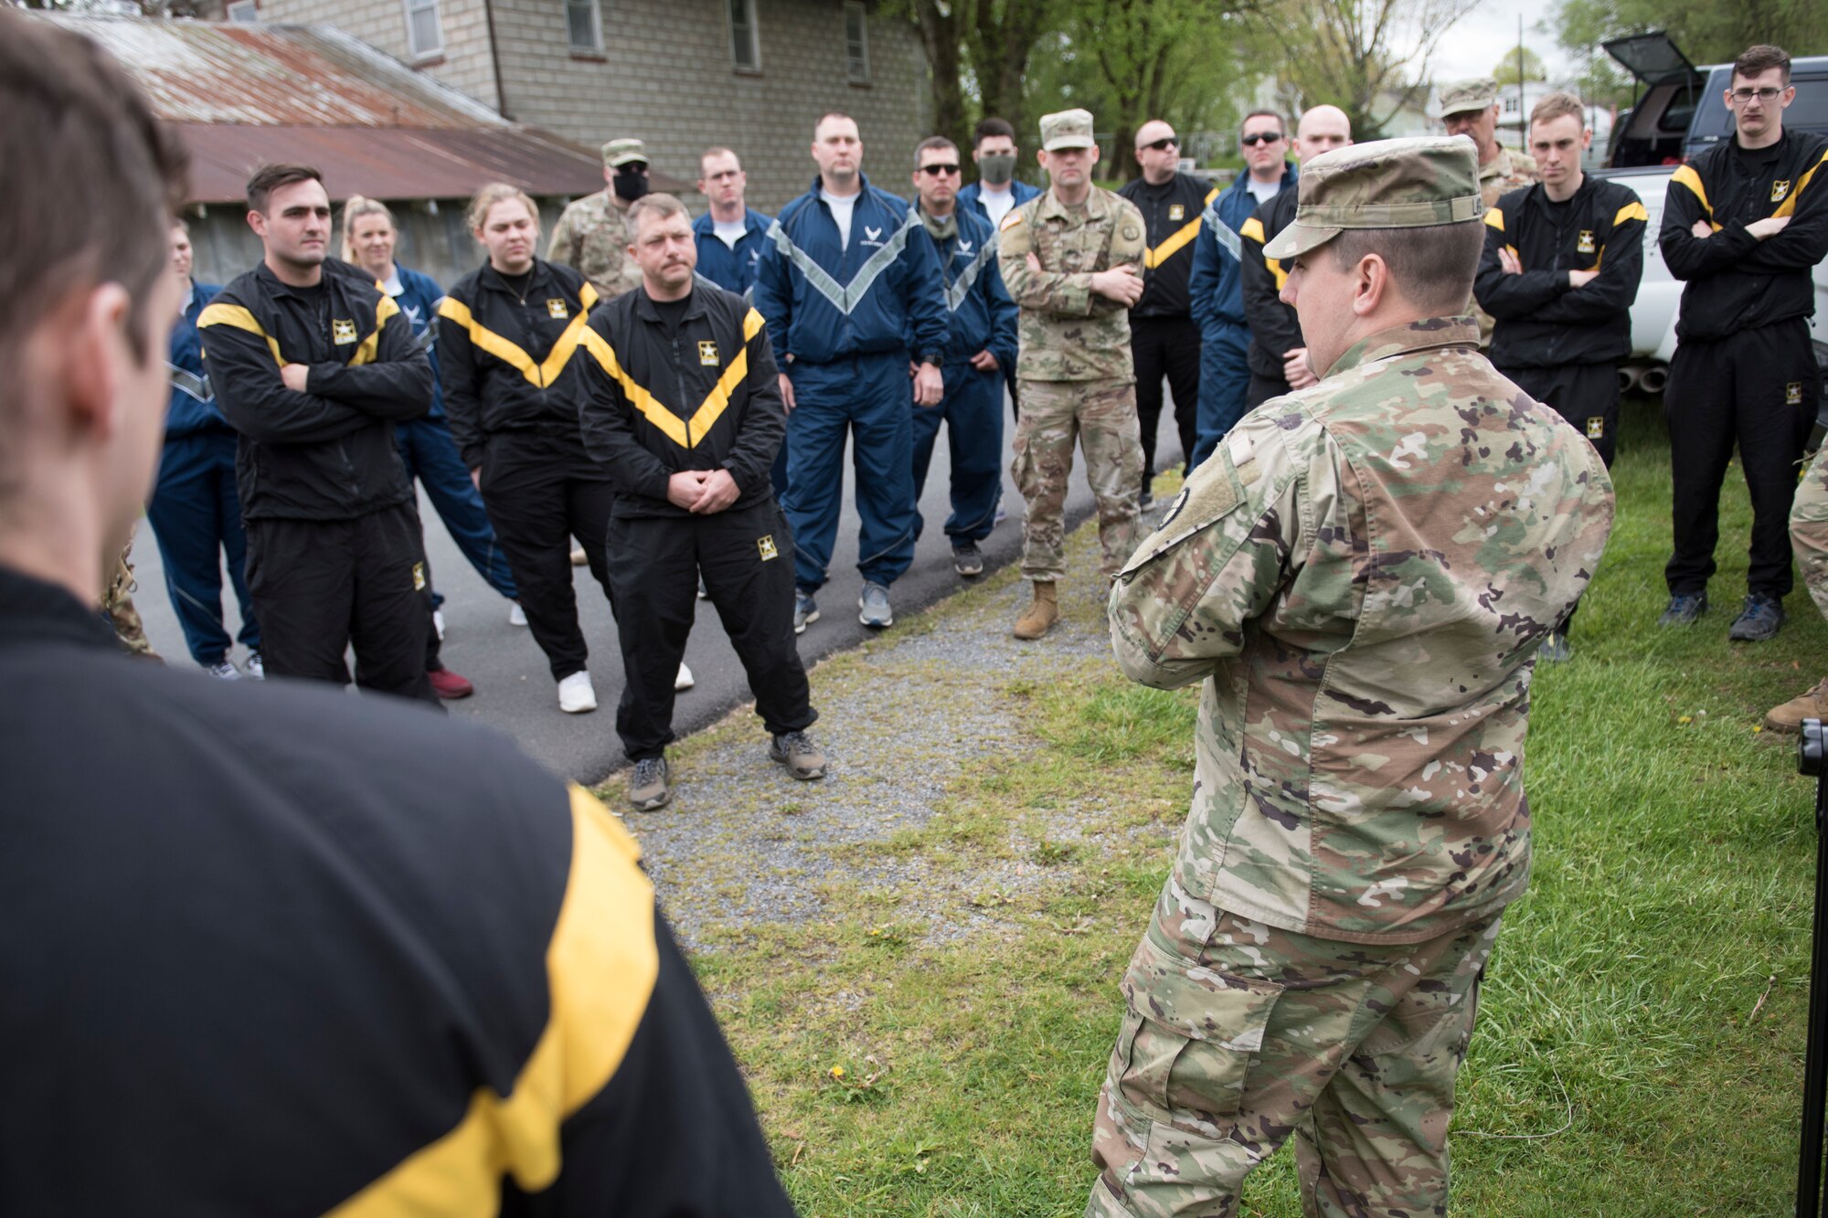
[[[1291,1132],[1309,1218],[1446,1214],[1453,1077],[1499,916],[1345,944],[1170,878],[1122,980],[1086,1218],[1230,1218]]]

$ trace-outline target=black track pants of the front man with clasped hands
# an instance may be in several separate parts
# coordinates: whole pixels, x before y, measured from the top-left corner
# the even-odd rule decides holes
[[[793,538],[773,497],[713,516],[618,516],[609,571],[623,668],[616,733],[629,761],[658,757],[673,741],[673,678],[700,572],[762,724],[795,732],[819,717],[793,646]]]

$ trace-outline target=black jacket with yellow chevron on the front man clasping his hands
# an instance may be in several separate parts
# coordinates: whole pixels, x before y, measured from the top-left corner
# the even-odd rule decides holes
[[[678,333],[667,335],[638,287],[590,315],[583,346],[583,443],[614,475],[612,516],[691,516],[667,499],[667,479],[684,470],[729,470],[737,508],[771,494],[786,411],[762,315],[748,300],[695,280]]]

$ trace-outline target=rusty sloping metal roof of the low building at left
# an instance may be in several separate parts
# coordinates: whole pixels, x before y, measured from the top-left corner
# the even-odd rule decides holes
[[[55,15],[133,75],[192,155],[192,203],[232,203],[254,166],[302,161],[333,199],[459,199],[490,181],[528,194],[603,188],[594,148],[508,123],[331,26]],[[651,174],[656,190],[686,183]]]

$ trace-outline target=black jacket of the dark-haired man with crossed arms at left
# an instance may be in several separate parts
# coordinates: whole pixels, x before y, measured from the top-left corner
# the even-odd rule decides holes
[[[241,433],[236,483],[247,519],[353,519],[413,497],[393,422],[431,410],[431,360],[393,296],[325,260],[316,289],[261,263],[197,316],[223,417]],[[305,391],[280,369],[305,364]]]

